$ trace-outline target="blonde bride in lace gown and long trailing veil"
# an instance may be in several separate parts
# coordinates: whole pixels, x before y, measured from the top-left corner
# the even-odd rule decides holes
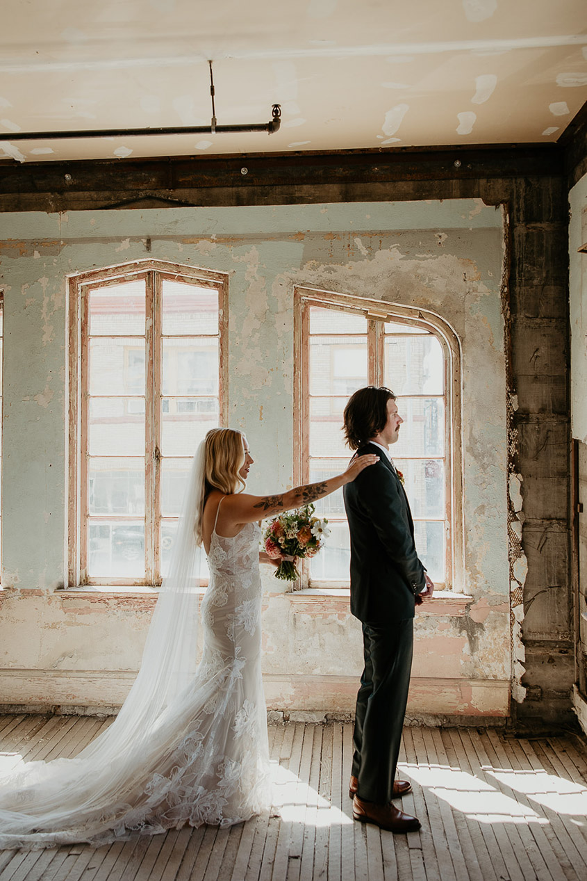
[[[127,700],[75,759],[30,762],[1,781],[0,848],[99,846],[185,824],[228,826],[269,806],[258,522],[334,492],[375,462],[363,455],[321,483],[253,496],[242,492],[253,464],[245,435],[209,431]],[[198,610],[202,545],[209,586]]]

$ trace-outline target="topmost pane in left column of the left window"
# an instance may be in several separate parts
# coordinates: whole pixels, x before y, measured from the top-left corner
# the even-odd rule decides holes
[[[89,291],[90,333],[103,337],[143,336],[144,304],[142,280]]]

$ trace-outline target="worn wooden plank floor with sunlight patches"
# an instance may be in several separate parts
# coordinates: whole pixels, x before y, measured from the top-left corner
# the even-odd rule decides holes
[[[110,723],[0,716],[0,769],[73,756]],[[576,735],[404,730],[409,835],[354,823],[349,724],[269,728],[271,811],[229,830],[184,828],[132,844],[0,851],[0,881],[585,881],[587,746]]]

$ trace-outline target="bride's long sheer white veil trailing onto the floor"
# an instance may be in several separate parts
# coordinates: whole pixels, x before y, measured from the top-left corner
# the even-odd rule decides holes
[[[136,763],[165,730],[197,668],[202,546],[194,531],[202,517],[204,466],[202,441],[141,667],[119,714],[75,759],[30,762],[0,781],[0,848],[92,840],[105,828],[115,838],[132,823]],[[138,814],[135,819],[142,822]]]

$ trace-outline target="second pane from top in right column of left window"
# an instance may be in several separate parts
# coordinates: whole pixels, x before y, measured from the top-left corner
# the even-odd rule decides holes
[[[218,394],[217,339],[164,339],[163,394]]]

